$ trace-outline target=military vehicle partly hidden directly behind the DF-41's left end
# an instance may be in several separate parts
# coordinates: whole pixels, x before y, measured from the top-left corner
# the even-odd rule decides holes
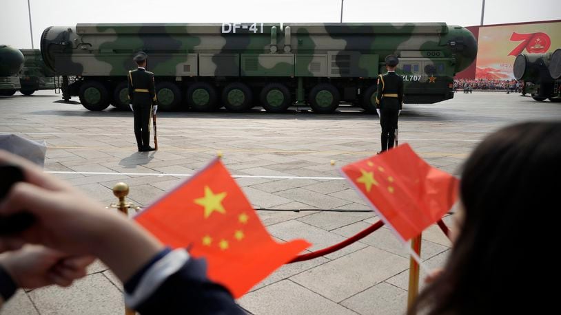
[[[54,89],[54,72],[43,63],[40,50],[20,50],[26,61],[20,72],[19,92],[23,95],[31,95],[39,89]]]

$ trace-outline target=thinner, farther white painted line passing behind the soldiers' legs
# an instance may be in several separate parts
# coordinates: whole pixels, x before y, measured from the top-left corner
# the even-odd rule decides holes
[[[110,135],[110,136],[131,136],[132,133],[55,133],[55,132],[6,132],[0,131],[0,134],[15,134],[15,135]],[[362,140],[362,141],[371,141],[377,142],[378,140],[374,140],[372,138],[345,138],[345,137],[294,137],[292,135],[166,135],[159,133],[159,136],[162,138],[166,137],[180,137],[180,138],[256,138],[256,139],[316,139],[316,140]],[[476,139],[418,139],[418,138],[401,138],[400,140],[407,140],[407,141],[451,141],[451,142],[480,142],[481,140]]]

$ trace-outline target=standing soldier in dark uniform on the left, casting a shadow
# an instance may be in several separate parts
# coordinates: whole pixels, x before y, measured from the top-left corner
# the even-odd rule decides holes
[[[128,75],[130,109],[134,113],[134,136],[139,152],[154,151],[150,146],[150,115],[158,110],[154,74],[146,71],[145,52],[139,52],[132,60],[138,69]]]

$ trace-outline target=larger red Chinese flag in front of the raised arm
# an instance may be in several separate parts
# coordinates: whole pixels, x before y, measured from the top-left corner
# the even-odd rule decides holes
[[[209,279],[227,287],[234,298],[310,246],[301,239],[274,241],[218,159],[136,221],[168,246],[188,247],[192,257],[204,257]]]

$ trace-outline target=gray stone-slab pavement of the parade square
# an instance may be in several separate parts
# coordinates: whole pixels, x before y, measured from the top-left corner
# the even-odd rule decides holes
[[[0,133],[45,140],[45,171],[105,205],[115,202],[112,186],[126,182],[130,202],[147,206],[221,151],[278,241],[302,237],[314,244],[309,250],[318,250],[378,219],[365,212],[368,206],[336,167],[379,150],[378,118],[356,108],[332,115],[307,107],[285,114],[161,112],[154,153],[135,151],[130,112],[87,111],[52,91],[0,97],[0,111]],[[456,94],[435,105],[405,105],[400,141],[429,164],[459,175],[490,132],[523,120],[560,119],[560,104],[518,94]],[[443,265],[449,241],[436,226],[423,239],[422,259],[429,268]],[[384,227],[325,257],[284,265],[238,303],[252,314],[404,314],[408,270],[405,248]],[[99,261],[88,273],[68,288],[20,291],[0,314],[122,314],[121,283]]]

